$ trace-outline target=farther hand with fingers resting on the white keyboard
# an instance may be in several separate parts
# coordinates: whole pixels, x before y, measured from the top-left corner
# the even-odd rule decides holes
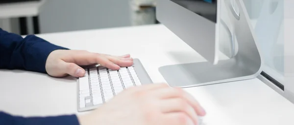
[[[83,77],[85,70],[78,65],[100,64],[112,70],[120,69],[120,66],[133,65],[130,55],[111,56],[106,54],[91,53],[84,50],[54,50],[46,61],[46,71],[53,77],[71,75]]]

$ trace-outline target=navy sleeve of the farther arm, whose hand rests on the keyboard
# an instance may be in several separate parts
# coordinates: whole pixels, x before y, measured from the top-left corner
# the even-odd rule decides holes
[[[0,28],[0,69],[24,69],[46,73],[47,57],[56,49],[67,48],[54,45],[35,35],[23,38]]]

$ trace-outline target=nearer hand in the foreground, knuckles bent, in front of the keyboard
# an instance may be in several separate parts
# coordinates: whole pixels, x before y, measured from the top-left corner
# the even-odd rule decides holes
[[[148,84],[128,88],[78,119],[81,125],[197,125],[198,115],[205,111],[182,89]]]

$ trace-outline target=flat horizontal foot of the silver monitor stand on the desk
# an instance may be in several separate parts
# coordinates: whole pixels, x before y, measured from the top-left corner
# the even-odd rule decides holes
[[[194,62],[167,65],[159,68],[166,82],[173,87],[194,87],[256,78],[252,69],[238,66],[234,59],[210,62]]]

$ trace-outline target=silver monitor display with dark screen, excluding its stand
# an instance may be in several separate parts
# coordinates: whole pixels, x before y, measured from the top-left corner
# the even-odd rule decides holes
[[[218,0],[158,0],[156,18],[208,62],[217,64],[220,3]]]

